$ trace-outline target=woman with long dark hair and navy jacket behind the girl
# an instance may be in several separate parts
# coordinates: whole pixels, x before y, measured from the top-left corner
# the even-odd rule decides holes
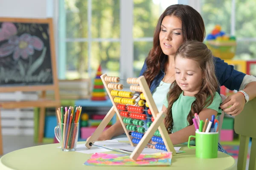
[[[204,37],[204,21],[201,15],[190,6],[172,5],[160,16],[154,32],[153,47],[140,72],[140,75],[145,76],[159,111],[162,110],[163,99],[171,83],[175,81],[174,56],[177,49],[184,41],[203,42]],[[215,74],[221,86],[224,85],[230,90],[243,90],[246,96],[249,95],[250,100],[255,98],[255,77],[236,71],[233,66],[224,63],[220,58],[214,58],[214,60]],[[227,97],[221,104],[221,109],[227,114],[238,115],[246,103],[244,93],[238,92]],[[230,105],[232,106],[229,107]],[[122,133],[124,133],[122,125],[117,121],[104,131],[98,140],[108,140]]]

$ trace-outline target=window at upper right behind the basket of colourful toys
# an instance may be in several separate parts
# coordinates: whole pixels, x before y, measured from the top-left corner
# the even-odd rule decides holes
[[[256,9],[255,0],[202,0],[201,15],[209,34],[216,24],[237,40],[233,59],[256,58]]]

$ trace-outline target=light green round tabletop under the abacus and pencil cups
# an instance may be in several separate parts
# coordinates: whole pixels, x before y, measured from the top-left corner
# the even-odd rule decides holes
[[[79,144],[85,142],[79,142]],[[84,162],[90,155],[79,152],[63,152],[60,144],[47,144],[36,147],[28,147],[7,153],[0,159],[0,170],[120,170],[124,167],[110,166],[85,166]],[[172,157],[170,167],[125,167],[127,170],[236,170],[236,161],[233,157],[218,152],[218,158],[195,158],[195,149],[189,149],[184,145],[180,150],[186,153],[178,153]],[[114,152],[109,152],[114,153]]]

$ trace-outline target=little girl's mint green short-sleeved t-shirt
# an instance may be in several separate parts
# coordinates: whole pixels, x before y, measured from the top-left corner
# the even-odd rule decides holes
[[[180,97],[177,101],[172,105],[172,117],[173,117],[173,127],[172,133],[175,133],[187,126],[189,126],[189,122],[187,121],[187,116],[191,110],[191,105],[195,101],[195,97],[192,96],[184,96],[183,92],[180,94]],[[207,107],[207,109],[213,109],[218,112],[218,115],[221,115],[220,104],[222,102],[221,96],[218,92],[215,92],[215,96],[213,98],[212,103]],[[167,108],[168,101],[167,98],[164,99],[163,105]],[[187,144],[183,143],[183,144]],[[192,140],[190,142],[191,145],[195,145],[195,141]]]

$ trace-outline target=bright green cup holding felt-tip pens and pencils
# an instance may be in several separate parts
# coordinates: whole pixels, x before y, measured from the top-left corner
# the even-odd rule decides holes
[[[190,138],[195,138],[195,147],[190,147]],[[195,148],[197,158],[217,158],[218,155],[218,132],[205,133],[195,132],[189,136],[188,147]]]

